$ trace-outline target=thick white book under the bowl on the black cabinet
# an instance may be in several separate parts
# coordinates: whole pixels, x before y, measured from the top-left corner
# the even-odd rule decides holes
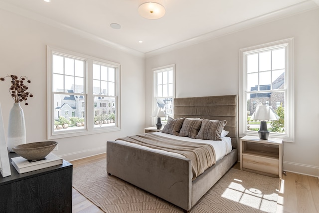
[[[63,163],[63,159],[50,153],[43,160],[30,162],[23,157],[11,158],[11,164],[18,173],[26,173],[34,170],[39,170],[47,167],[60,165]]]

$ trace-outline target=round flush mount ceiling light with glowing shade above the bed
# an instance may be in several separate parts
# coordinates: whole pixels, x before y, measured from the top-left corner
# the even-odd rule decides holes
[[[158,19],[165,14],[165,8],[157,2],[146,2],[139,6],[139,13],[147,19]]]

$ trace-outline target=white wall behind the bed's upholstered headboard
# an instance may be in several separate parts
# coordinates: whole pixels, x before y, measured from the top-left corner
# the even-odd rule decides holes
[[[295,37],[295,143],[284,143],[284,169],[319,176],[319,9],[147,58],[147,126],[152,68],[176,64],[178,98],[238,94],[239,49],[290,37]]]

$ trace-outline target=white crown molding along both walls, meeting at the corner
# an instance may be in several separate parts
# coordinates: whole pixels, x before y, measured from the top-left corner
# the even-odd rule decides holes
[[[295,4],[295,5],[292,5],[292,6],[289,6],[289,7],[274,11],[274,12],[267,13],[265,15],[251,18],[251,19],[248,19],[246,21],[238,22],[236,24],[232,24],[230,26],[227,26],[227,27],[224,27],[221,29],[217,29],[217,30],[212,31],[212,32],[208,32],[208,33],[205,33],[205,34],[202,34],[202,35],[199,35],[199,36],[196,36],[196,37],[193,37],[193,38],[181,41],[181,42],[177,42],[175,44],[168,45],[166,47],[162,47],[162,48],[154,50],[154,51],[143,53],[143,52],[137,51],[135,49],[126,47],[124,45],[109,41],[105,38],[101,38],[101,37],[96,36],[92,33],[89,33],[89,32],[77,29],[75,27],[71,27],[67,24],[55,21],[53,19],[44,17],[43,15],[28,11],[26,9],[15,6],[13,4],[9,4],[9,3],[5,3],[3,1],[0,1],[0,8],[1,9],[15,13],[17,15],[21,15],[21,16],[33,19],[35,21],[39,21],[39,22],[51,25],[51,26],[56,27],[56,28],[66,30],[68,32],[77,34],[81,37],[98,42],[102,45],[126,52],[126,53],[131,54],[131,55],[142,57],[142,58],[144,58],[144,57],[150,58],[150,57],[160,55],[160,54],[163,54],[163,53],[166,53],[169,51],[173,51],[176,49],[191,46],[191,45],[201,43],[201,42],[204,42],[204,41],[207,41],[210,39],[214,39],[214,38],[217,38],[217,37],[220,37],[223,35],[227,35],[227,34],[241,31],[241,30],[244,30],[247,28],[251,28],[254,26],[265,24],[267,22],[271,22],[271,21],[274,21],[277,19],[281,19],[281,18],[291,16],[291,15],[294,15],[297,13],[305,12],[305,11],[315,9],[318,7],[319,7],[319,0],[306,0],[306,1],[303,1],[301,3]]]

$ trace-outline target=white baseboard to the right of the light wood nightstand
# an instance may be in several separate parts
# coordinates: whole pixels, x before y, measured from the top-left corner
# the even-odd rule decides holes
[[[309,175],[319,178],[319,167],[309,166],[305,164],[297,164],[293,162],[284,161],[284,171],[293,172],[303,175]]]

